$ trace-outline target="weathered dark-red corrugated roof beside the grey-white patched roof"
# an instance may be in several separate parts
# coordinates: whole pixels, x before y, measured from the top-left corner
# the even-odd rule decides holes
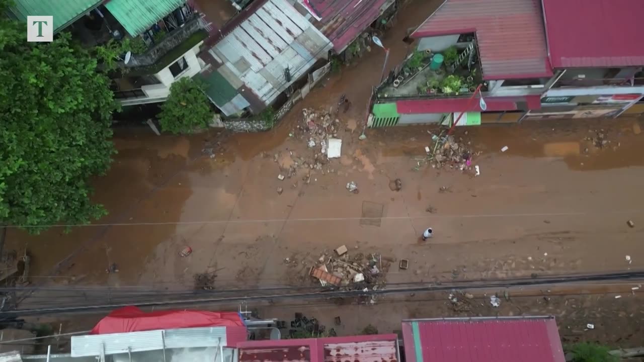
[[[322,33],[339,53],[381,14],[386,0],[304,0],[308,11],[316,14]]]

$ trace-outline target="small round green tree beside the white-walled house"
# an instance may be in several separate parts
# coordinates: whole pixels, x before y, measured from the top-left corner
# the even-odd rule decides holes
[[[207,128],[212,119],[213,111],[202,84],[189,77],[172,84],[159,114],[161,129],[175,134]]]

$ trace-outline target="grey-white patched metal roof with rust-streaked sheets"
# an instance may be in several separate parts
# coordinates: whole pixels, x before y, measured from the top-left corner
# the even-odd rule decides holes
[[[238,77],[266,106],[305,75],[317,59],[326,58],[331,47],[290,3],[269,0],[211,51],[224,63],[226,77]],[[290,81],[285,76],[287,68]]]

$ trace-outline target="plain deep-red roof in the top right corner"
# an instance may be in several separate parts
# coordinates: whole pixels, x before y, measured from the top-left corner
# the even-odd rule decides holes
[[[543,0],[554,68],[644,66],[642,0]]]

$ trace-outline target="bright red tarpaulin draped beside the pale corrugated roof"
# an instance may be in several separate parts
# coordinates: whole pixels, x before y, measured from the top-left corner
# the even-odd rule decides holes
[[[90,334],[139,332],[155,329],[195,327],[243,327],[237,312],[205,310],[163,310],[146,313],[137,307],[113,310],[91,330]]]

